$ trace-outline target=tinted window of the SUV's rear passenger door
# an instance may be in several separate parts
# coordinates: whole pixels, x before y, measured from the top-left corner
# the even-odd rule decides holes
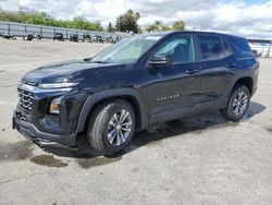
[[[202,60],[217,60],[225,57],[219,36],[198,36]]]

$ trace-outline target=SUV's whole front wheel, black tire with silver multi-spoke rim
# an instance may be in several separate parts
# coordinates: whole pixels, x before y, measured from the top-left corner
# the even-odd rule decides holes
[[[134,108],[126,100],[100,105],[91,114],[88,138],[91,146],[103,155],[124,149],[135,131]]]

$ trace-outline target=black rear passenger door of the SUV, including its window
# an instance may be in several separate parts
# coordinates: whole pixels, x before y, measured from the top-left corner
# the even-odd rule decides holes
[[[220,35],[197,35],[200,83],[199,96],[202,104],[227,100],[236,61],[227,43]]]

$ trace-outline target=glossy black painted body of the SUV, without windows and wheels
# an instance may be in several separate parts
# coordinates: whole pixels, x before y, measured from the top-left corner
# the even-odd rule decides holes
[[[150,35],[150,34],[148,34]],[[157,34],[158,35],[158,34]],[[88,117],[99,102],[110,98],[129,100],[137,113],[137,129],[176,118],[189,117],[211,109],[225,108],[238,81],[246,80],[251,95],[257,89],[259,62],[255,55],[232,55],[220,60],[201,61],[197,35],[215,35],[222,40],[238,38],[215,33],[175,32],[162,38],[133,64],[91,63],[88,59],[41,67],[27,73],[23,82],[36,86],[65,79],[78,83],[70,92],[34,93],[32,111],[20,105],[14,111],[14,128],[30,137],[75,146]],[[176,35],[193,35],[196,61],[150,68],[156,50]],[[50,101],[64,95],[61,114],[48,114]]]

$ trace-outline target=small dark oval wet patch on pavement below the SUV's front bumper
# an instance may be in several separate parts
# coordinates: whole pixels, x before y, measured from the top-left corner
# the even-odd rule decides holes
[[[46,166],[46,167],[66,167],[67,164],[63,162],[60,159],[55,159],[53,155],[39,155],[36,157],[30,158],[32,162],[35,162],[40,166]]]

